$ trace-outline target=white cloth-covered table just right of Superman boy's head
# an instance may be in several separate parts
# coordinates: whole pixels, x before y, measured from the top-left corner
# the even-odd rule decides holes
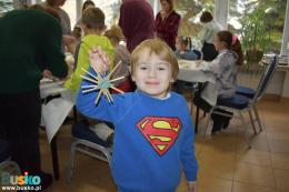
[[[179,74],[178,80],[188,82],[209,82],[201,93],[201,97],[211,105],[216,105],[218,91],[216,87],[216,77],[210,72],[201,70],[201,63],[198,65],[197,61],[178,60]]]

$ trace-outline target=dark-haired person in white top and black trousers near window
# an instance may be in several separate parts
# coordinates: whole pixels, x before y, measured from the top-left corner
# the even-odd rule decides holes
[[[200,41],[202,43],[201,51],[203,54],[202,59],[205,61],[212,61],[218,55],[218,51],[213,46],[213,37],[222,28],[217,21],[213,20],[209,11],[202,12],[200,21],[203,23],[203,28],[200,32]]]

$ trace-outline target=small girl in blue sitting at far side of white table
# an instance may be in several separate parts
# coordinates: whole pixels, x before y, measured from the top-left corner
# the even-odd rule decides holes
[[[191,38],[179,36],[176,41],[176,55],[178,59],[198,60],[198,55],[191,50]]]

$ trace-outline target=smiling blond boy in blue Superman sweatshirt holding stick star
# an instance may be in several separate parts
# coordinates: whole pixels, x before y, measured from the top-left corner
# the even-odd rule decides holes
[[[91,52],[94,70],[103,71],[103,58],[99,49]],[[112,104],[104,97],[94,104],[98,92],[80,91],[77,100],[81,113],[114,125],[111,172],[118,191],[175,192],[183,170],[188,191],[195,192],[192,120],[187,101],[170,91],[179,71],[175,53],[165,42],[150,39],[133,50],[130,63],[136,92],[113,94]]]

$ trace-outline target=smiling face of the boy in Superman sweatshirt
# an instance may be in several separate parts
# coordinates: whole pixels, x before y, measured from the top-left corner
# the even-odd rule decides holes
[[[161,60],[149,49],[140,51],[132,80],[139,90],[155,98],[166,98],[168,89],[173,79],[171,77],[171,64]]]

